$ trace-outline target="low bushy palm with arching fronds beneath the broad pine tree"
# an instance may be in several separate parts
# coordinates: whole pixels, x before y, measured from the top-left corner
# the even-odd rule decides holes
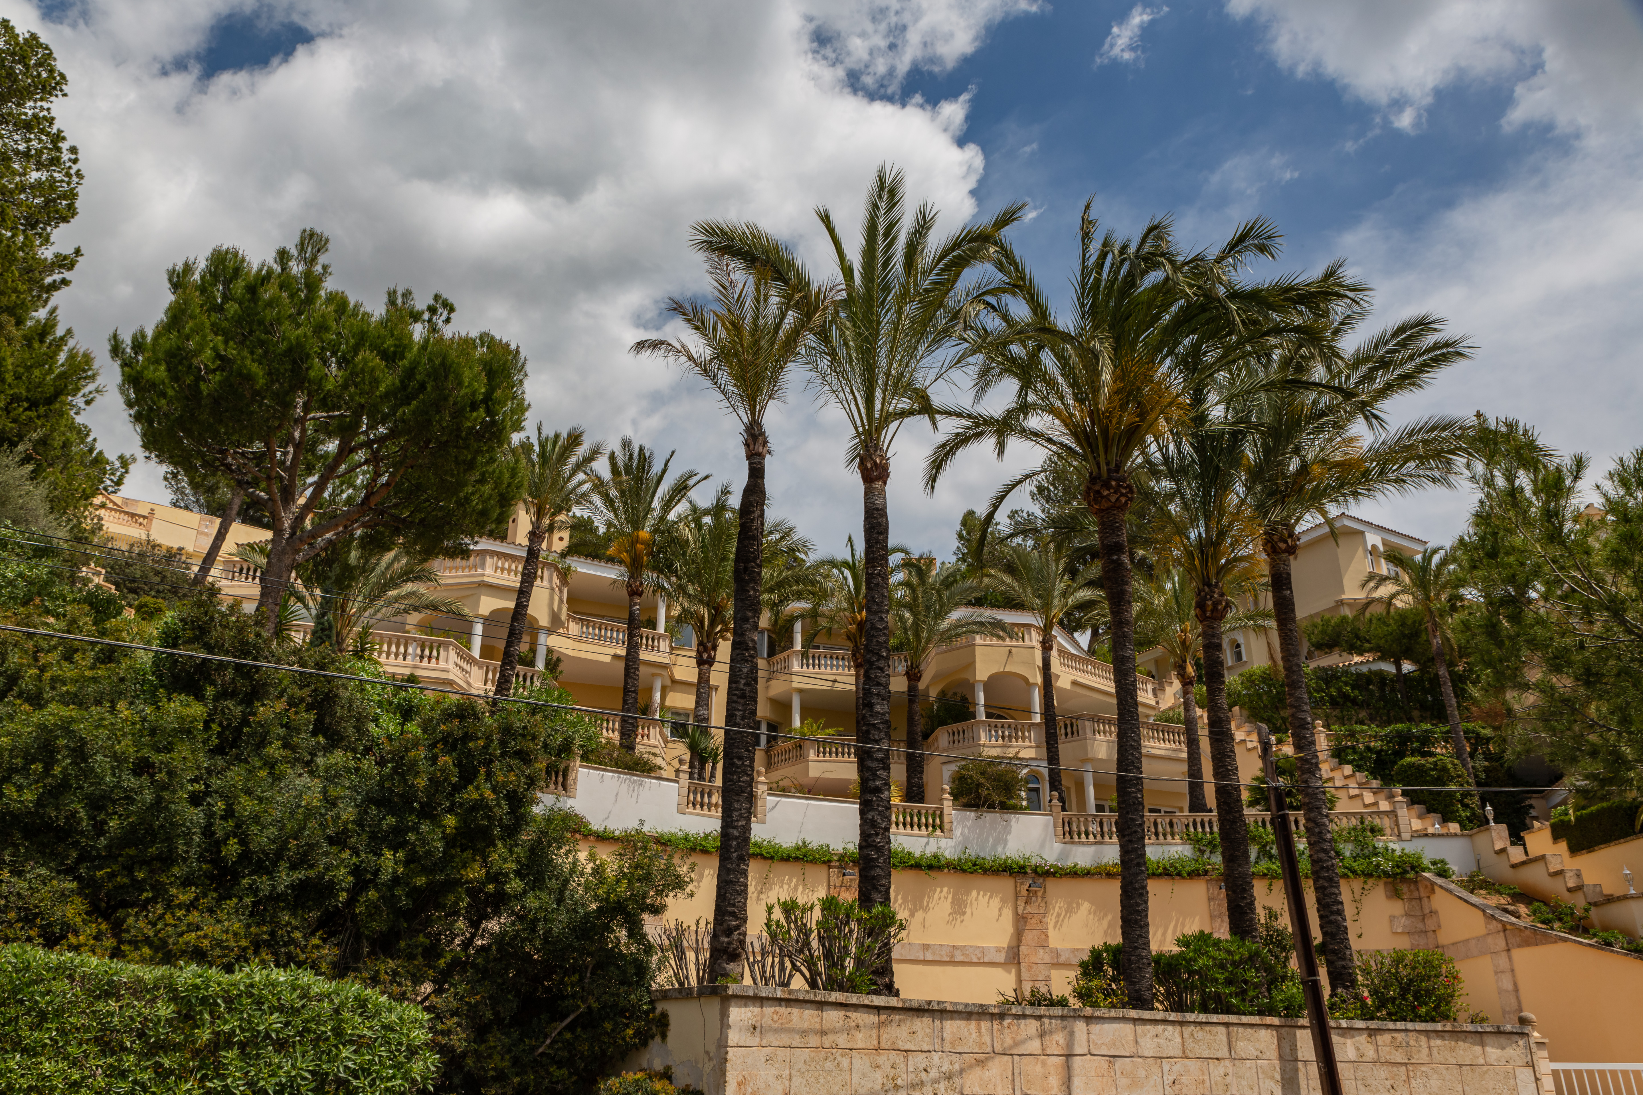
[[[268,561],[268,542],[242,543],[235,555],[255,566]],[[468,619],[462,604],[432,593],[439,571],[401,550],[378,552],[358,537],[330,545],[296,570],[289,604],[314,624],[309,642],[370,655],[376,625],[411,614]],[[283,616],[283,612],[281,612]],[[281,629],[284,630],[284,629]]]

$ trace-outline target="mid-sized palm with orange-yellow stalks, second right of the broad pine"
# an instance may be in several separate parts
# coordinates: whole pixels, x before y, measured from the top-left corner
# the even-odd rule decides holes
[[[628,752],[639,747],[639,602],[656,555],[657,538],[672,522],[674,514],[690,497],[706,476],[682,471],[672,479],[667,470],[674,453],[656,463],[656,453],[631,437],[606,456],[606,471],[588,474],[588,504],[613,534],[610,555],[623,570],[623,588],[628,593],[628,657],[621,671],[621,734],[619,744]]]

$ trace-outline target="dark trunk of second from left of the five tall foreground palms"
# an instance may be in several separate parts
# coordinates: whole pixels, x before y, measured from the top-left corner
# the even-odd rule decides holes
[[[861,461],[861,538],[866,570],[866,621],[863,627],[861,724],[856,727],[856,767],[861,773],[863,908],[891,903],[891,511],[884,484],[891,458],[882,450]],[[874,970],[876,993],[895,995],[895,970],[886,959]]]

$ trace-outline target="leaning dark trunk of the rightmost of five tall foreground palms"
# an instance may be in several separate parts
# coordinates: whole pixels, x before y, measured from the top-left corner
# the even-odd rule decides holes
[[[1290,747],[1295,750],[1296,783],[1301,791],[1301,816],[1306,822],[1306,850],[1313,864],[1313,893],[1318,900],[1318,931],[1324,941],[1324,967],[1329,992],[1357,988],[1352,962],[1352,928],[1341,896],[1341,864],[1336,860],[1329,834],[1329,799],[1324,796],[1323,770],[1318,767],[1318,734],[1313,729],[1313,706],[1306,694],[1301,658],[1301,627],[1295,616],[1295,581],[1291,565],[1300,547],[1295,529],[1268,530],[1263,537],[1267,570],[1272,576],[1272,616],[1278,632],[1278,655],[1283,658],[1283,696],[1290,709]],[[1208,645],[1208,637],[1204,639]]]

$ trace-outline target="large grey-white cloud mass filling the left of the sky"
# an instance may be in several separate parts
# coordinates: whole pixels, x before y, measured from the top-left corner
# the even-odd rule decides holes
[[[85,259],[59,300],[90,348],[159,317],[168,264],[219,243],[263,258],[314,225],[357,297],[440,291],[460,327],[518,341],[534,417],[633,432],[731,481],[731,420],[697,384],[628,355],[656,333],[660,299],[703,284],[690,222],[754,218],[822,264],[812,208],[851,223],[882,161],[948,227],[963,222],[983,171],[961,141],[968,97],[884,102],[851,77],[951,66],[1030,7],[930,0],[891,18],[798,0],[306,0],[261,10],[320,38],[283,64],[202,80],[187,57],[243,0],[85,0],[66,25],[0,0],[69,74],[59,121],[87,179],[62,243]],[[105,448],[136,450],[117,396],[92,424]],[[841,424],[800,391],[772,433],[774,504],[841,547],[861,512]],[[894,517],[899,537],[945,548],[997,470],[973,461],[928,501],[927,447],[914,432],[902,445]],[[158,470],[140,465],[128,491],[163,497]]]

